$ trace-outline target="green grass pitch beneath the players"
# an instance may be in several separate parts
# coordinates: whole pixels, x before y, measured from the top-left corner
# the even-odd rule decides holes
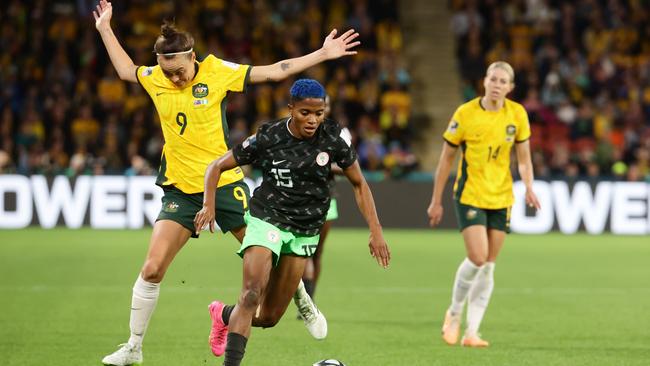
[[[485,350],[444,345],[439,329],[463,257],[455,232],[388,230],[380,269],[367,232],[334,229],[316,299],[329,336],[314,341],[291,306],[253,331],[244,365],[648,365],[650,239],[508,237],[482,327]],[[128,337],[131,286],[148,230],[0,231],[3,365],[99,365]],[[207,345],[211,299],[241,281],[234,239],[203,235],[172,265],[144,347],[145,365],[220,365]]]

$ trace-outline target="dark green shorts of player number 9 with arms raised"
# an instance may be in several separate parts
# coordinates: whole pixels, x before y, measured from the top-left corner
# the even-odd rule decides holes
[[[158,220],[175,221],[199,236],[194,230],[194,216],[203,208],[203,193],[184,193],[174,186],[162,187],[164,195]],[[248,210],[250,194],[243,180],[217,188],[215,194],[215,218],[221,231],[228,232],[246,225],[244,212]]]

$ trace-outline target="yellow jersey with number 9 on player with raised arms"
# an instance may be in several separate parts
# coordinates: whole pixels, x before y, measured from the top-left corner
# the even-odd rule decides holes
[[[184,193],[203,192],[208,164],[229,149],[227,93],[244,91],[250,70],[208,55],[197,62],[194,80],[179,89],[160,66],[138,67],[136,77],[158,110],[165,138],[156,184],[173,185]],[[243,177],[240,168],[228,170],[217,186]]]

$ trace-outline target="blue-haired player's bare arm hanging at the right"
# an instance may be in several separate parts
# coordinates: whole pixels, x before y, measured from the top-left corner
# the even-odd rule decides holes
[[[370,228],[370,243],[368,244],[370,255],[375,257],[380,266],[387,268],[390,264],[390,249],[388,249],[386,240],[384,240],[384,234],[375,209],[375,200],[366,179],[361,173],[359,162],[355,161],[350,167],[343,169],[343,173],[352,183],[357,206],[359,206],[359,211],[366,223],[368,223],[368,228]]]

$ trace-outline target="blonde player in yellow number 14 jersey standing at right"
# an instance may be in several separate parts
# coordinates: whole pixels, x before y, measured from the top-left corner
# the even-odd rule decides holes
[[[451,306],[442,327],[442,338],[450,345],[458,342],[467,300],[467,329],[461,344],[488,346],[478,329],[494,288],[494,263],[510,231],[510,207],[514,200],[510,173],[513,146],[519,174],[526,185],[526,204],[540,208],[533,192],[528,115],[521,104],[506,98],[515,86],[514,81],[515,74],[508,63],[491,64],[483,81],[485,95],[458,107],[443,135],[445,142],[427,209],[429,223],[431,226],[440,223],[442,193],[460,147],[454,202],[467,251],[467,258],[456,272]]]

